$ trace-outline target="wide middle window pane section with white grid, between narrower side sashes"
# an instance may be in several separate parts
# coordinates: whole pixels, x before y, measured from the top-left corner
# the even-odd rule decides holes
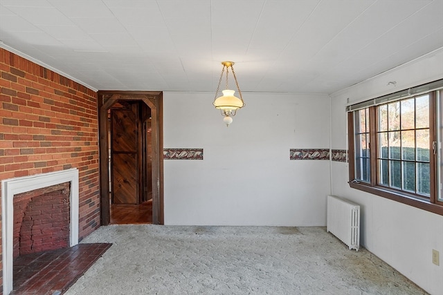
[[[426,94],[377,106],[379,185],[430,197],[429,99]]]

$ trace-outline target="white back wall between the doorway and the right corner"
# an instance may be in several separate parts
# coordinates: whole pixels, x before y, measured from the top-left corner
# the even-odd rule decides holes
[[[325,226],[329,161],[289,149],[329,149],[329,97],[244,93],[226,127],[214,93],[163,93],[165,148],[204,160],[165,160],[166,225]]]

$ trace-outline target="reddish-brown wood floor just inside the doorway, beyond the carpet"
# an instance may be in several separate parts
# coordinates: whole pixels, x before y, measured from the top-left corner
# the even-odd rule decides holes
[[[139,205],[111,204],[111,225],[152,224],[152,199]]]

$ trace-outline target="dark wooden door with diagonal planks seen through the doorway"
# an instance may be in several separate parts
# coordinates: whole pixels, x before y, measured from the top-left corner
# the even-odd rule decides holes
[[[111,108],[112,204],[139,204],[138,104]]]

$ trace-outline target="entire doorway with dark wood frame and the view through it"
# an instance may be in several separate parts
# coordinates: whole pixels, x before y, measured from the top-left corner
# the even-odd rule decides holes
[[[102,225],[163,224],[161,92],[98,91]]]

